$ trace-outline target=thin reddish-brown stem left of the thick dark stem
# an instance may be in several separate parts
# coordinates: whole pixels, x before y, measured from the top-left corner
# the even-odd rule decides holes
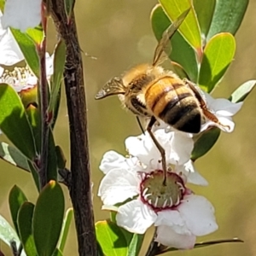
[[[42,25],[44,34],[46,34],[47,19],[44,15],[44,4],[42,4]],[[47,163],[48,163],[48,143],[49,143],[49,121],[48,121],[48,84],[46,78],[46,38],[44,37],[41,44],[38,45],[38,55],[40,61],[40,81],[39,81],[39,96],[40,96],[40,112],[41,112],[41,155],[39,162],[39,182],[40,190],[47,183]]]

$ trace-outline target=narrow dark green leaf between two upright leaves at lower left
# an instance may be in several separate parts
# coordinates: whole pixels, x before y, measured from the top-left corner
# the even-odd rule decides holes
[[[18,215],[18,225],[20,230],[20,241],[26,256],[38,255],[32,235],[32,218],[34,212],[34,205],[31,202],[24,202],[20,207]]]

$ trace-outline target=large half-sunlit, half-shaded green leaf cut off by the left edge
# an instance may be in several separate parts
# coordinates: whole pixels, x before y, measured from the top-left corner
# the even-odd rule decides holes
[[[32,128],[26,118],[20,97],[8,84],[0,84],[0,128],[30,160],[36,157]]]

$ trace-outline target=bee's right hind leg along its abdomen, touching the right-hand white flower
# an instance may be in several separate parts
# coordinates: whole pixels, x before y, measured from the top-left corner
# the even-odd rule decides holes
[[[202,98],[200,92],[196,89],[196,84],[192,83],[191,81],[189,81],[188,79],[183,79],[183,81],[185,82],[185,84],[189,85],[189,88],[191,90],[193,90],[193,92],[195,93],[195,97],[197,98],[197,100],[199,101],[200,105],[201,105],[201,110],[204,113],[204,115],[207,117],[207,119],[211,120],[212,122],[221,125],[223,127],[226,127],[227,129],[230,130],[230,126],[229,125],[222,125],[219,121],[218,118],[216,117],[216,115],[214,113],[212,113],[208,108],[207,108],[207,103],[204,101],[204,99]]]

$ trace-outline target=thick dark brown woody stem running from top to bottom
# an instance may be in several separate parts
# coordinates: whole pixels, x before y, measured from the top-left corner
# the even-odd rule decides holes
[[[96,255],[96,235],[90,191],[90,160],[83,65],[74,15],[67,22],[62,1],[50,1],[49,13],[67,46],[64,82],[70,128],[71,186],[80,256]]]

